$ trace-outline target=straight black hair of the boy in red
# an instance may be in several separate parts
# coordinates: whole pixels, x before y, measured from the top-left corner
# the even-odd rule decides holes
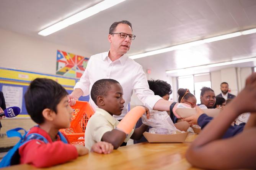
[[[54,80],[34,79],[24,95],[27,112],[34,122],[43,123],[42,111],[48,108],[57,113],[57,104],[67,95],[67,91]]]

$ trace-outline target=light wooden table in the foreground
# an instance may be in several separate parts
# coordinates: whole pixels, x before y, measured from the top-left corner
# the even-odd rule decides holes
[[[184,157],[189,143],[139,143],[120,147],[111,154],[89,153],[76,160],[51,167],[51,170],[196,170]],[[34,170],[31,165],[15,165],[6,170]],[[44,170],[46,168],[43,168]],[[48,168],[47,168],[48,169]]]

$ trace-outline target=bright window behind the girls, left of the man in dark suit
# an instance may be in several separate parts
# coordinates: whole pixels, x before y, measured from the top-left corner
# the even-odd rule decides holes
[[[201,103],[200,93],[202,87],[212,88],[209,73],[178,77],[178,88],[188,88],[196,96],[197,104]]]

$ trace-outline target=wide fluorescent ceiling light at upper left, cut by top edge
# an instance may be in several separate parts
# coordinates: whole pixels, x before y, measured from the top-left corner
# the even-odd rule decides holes
[[[72,15],[68,17],[67,19],[64,19],[63,21],[60,21],[50,27],[47,27],[44,30],[41,30],[38,32],[39,35],[47,36],[50,35],[58,30],[64,29],[67,26],[70,26],[72,24],[75,24],[76,22],[79,22],[85,18],[88,18],[96,13],[99,13],[100,11],[106,10],[114,5],[117,5],[118,3],[121,3],[125,0],[104,0],[94,6],[91,6],[90,8],[87,8],[86,10],[81,11],[80,13],[77,13],[75,15]]]

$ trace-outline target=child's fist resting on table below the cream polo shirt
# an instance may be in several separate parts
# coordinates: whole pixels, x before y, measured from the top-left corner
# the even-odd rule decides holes
[[[114,146],[111,143],[108,142],[98,142],[93,144],[91,147],[92,152],[96,152],[99,154],[109,154],[113,151]]]

